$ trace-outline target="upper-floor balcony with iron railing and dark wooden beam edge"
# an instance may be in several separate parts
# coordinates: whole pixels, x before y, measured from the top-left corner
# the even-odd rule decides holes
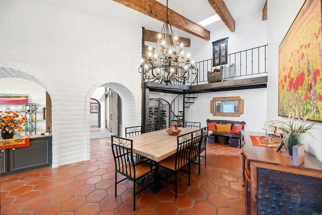
[[[214,92],[267,87],[267,45],[196,62],[196,73],[184,83],[166,85],[143,80],[157,92]],[[183,71],[178,71],[181,73]]]

